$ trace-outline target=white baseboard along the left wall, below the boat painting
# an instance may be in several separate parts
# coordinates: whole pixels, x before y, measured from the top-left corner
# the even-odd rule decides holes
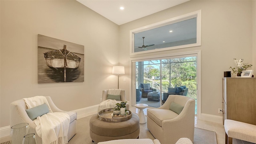
[[[93,105],[90,107],[84,107],[82,109],[76,109],[72,112],[77,113],[77,119],[81,119],[83,117],[87,117],[97,113],[99,105]],[[2,142],[2,138],[10,135],[11,128],[10,126],[5,126],[0,128],[0,142]]]

